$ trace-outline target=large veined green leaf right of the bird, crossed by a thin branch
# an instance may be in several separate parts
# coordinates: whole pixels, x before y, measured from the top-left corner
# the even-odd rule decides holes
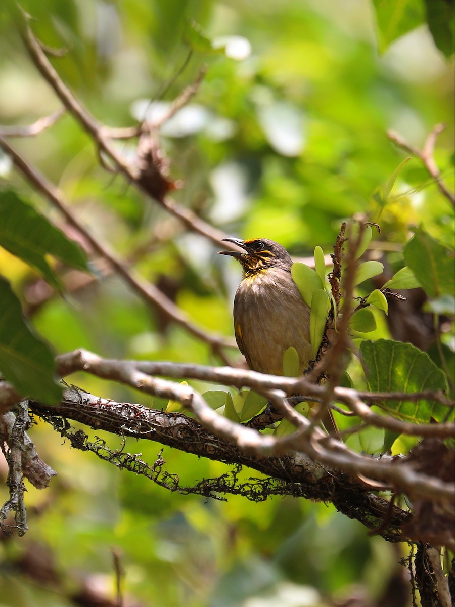
[[[360,344],[360,361],[370,392],[419,393],[428,390],[447,392],[447,380],[428,354],[411,344],[379,339]],[[416,423],[442,421],[448,409],[434,400],[389,401],[380,407],[394,415]]]

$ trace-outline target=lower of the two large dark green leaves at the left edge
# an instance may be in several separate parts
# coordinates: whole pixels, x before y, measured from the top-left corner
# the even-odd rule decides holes
[[[22,396],[56,404],[62,395],[49,346],[29,327],[10,284],[0,276],[0,372]]]

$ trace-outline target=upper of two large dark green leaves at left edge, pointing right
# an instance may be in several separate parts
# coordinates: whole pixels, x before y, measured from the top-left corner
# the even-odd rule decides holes
[[[81,247],[11,190],[0,191],[0,217],[0,246],[37,268],[53,287],[59,284],[47,254],[72,268],[89,270]]]

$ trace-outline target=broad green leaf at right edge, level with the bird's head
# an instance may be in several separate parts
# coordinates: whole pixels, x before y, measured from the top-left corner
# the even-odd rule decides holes
[[[403,251],[405,261],[430,297],[453,294],[455,253],[422,228],[416,230]]]

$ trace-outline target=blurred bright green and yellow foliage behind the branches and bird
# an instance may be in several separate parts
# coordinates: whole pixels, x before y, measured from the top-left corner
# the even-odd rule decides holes
[[[110,126],[159,112],[206,63],[197,98],[161,131],[170,174],[183,181],[175,200],[229,236],[268,237],[293,256],[308,256],[315,245],[330,253],[340,222],[352,214],[376,219],[374,193],[407,155],[388,140],[388,129],[421,148],[434,124],[445,122],[435,159],[453,187],[453,57],[445,56],[450,49],[437,48],[425,3],[409,4],[416,10],[399,15],[394,29],[396,14],[369,0],[22,3],[39,39],[67,49],[52,59],[63,80]],[[242,36],[234,41],[234,54],[244,58],[197,48],[189,56],[187,19],[215,42]],[[0,28],[0,122],[29,124],[59,103],[3,10]],[[93,233],[194,322],[232,335],[240,268],[122,177],[104,171],[71,117],[14,144],[58,185]],[[131,143],[116,144],[124,154],[133,152]],[[2,181],[65,228],[0,153]],[[388,274],[404,265],[410,225],[423,224],[453,246],[453,209],[417,158],[401,172],[379,223],[382,232],[369,256],[381,259]],[[62,299],[42,297],[36,274],[3,249],[0,269],[58,353],[84,347],[110,358],[220,362],[112,274],[84,282],[67,272],[69,293]],[[388,336],[382,320],[376,337]],[[453,342],[445,341],[453,352]],[[143,395],[95,378],[72,381],[105,398],[149,404]],[[206,503],[72,450],[42,422],[31,435],[58,477],[42,492],[27,487],[30,531],[0,541],[2,606],[72,605],[67,597],[75,602],[83,586],[113,596],[112,549],[122,555],[126,595],[132,597],[127,605],[303,607],[331,605],[330,596],[339,605],[354,596],[362,605],[379,605],[388,581],[406,574],[397,563],[407,547],[368,537],[360,523],[332,506],[292,498]],[[120,439],[104,438],[121,447]],[[130,441],[125,449],[153,462],[160,446]],[[163,457],[183,483],[225,470],[169,448]],[[5,501],[5,487],[0,497]]]

